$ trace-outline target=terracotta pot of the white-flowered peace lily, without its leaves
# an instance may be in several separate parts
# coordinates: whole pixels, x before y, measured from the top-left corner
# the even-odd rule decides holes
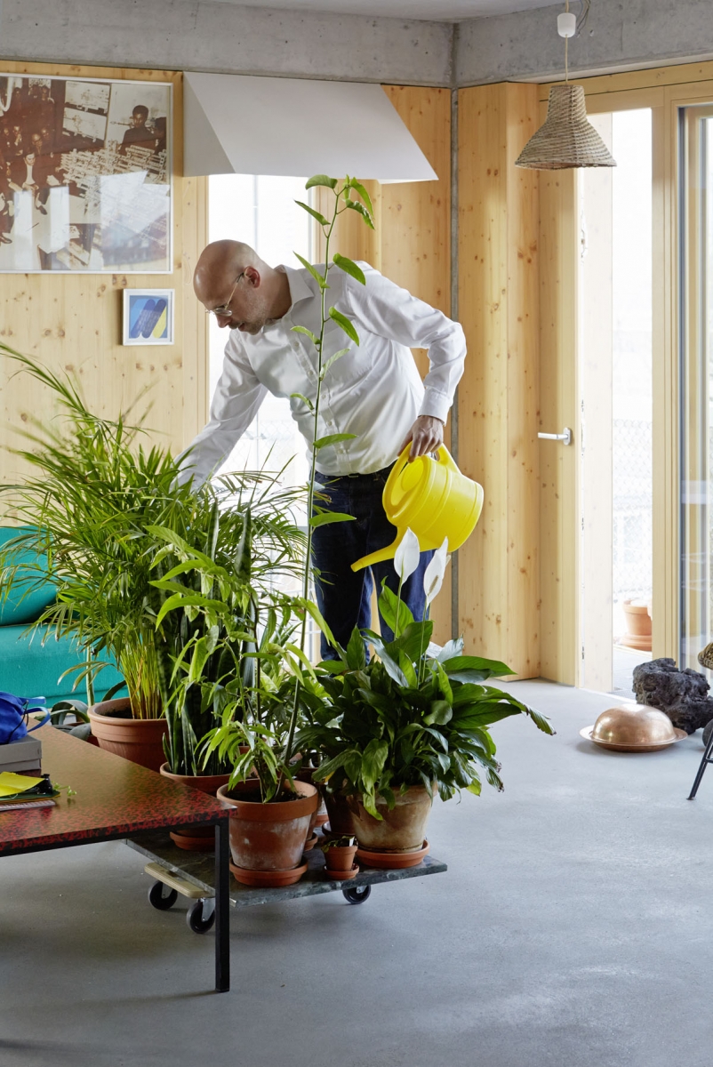
[[[438,786],[433,782],[433,794]],[[426,838],[426,823],[431,812],[431,798],[425,785],[411,785],[406,793],[394,790],[396,807],[389,810],[385,800],[377,798],[377,811],[383,818],[375,818],[364,808],[359,796],[349,797],[354,830],[360,846],[370,851],[411,851],[422,848]]]

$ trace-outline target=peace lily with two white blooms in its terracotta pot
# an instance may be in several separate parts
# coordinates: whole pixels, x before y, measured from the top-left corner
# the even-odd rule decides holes
[[[401,582],[417,559],[409,530],[394,559]],[[444,544],[426,571],[427,611],[446,562]],[[432,622],[414,620],[385,585],[379,609],[394,640],[355,630],[339,658],[321,665],[330,672],[321,679],[329,705],[311,713],[298,745],[322,751],[315,778],[329,783],[332,801],[347,803],[359,855],[371,865],[403,866],[427,850],[425,826],[437,793],[442,800],[463,789],[477,795],[482,771],[503,789],[490,726],[525,714],[543,732],[554,731],[534,708],[488,684],[511,673],[505,664],[463,655],[462,639],[431,646]],[[376,652],[369,662],[363,636]]]

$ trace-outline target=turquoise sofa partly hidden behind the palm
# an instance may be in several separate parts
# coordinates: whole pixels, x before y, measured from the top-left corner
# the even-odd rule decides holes
[[[16,526],[0,526],[0,545],[27,530],[28,527],[20,530]],[[29,635],[26,633],[29,624],[38,619],[53,602],[54,586],[47,582],[23,598],[23,591],[36,578],[37,556],[28,551],[18,551],[13,557],[13,562],[15,560],[27,564],[28,578],[19,585],[14,583],[11,595],[6,600],[0,599],[0,690],[13,692],[17,697],[44,697],[48,707],[67,697],[85,701],[86,687],[83,682],[73,691],[76,673],[60,681],[67,668],[84,659],[76,641],[68,637],[58,640],[48,633],[46,626],[38,627]],[[43,638],[46,638],[44,643]],[[95,700],[101,700],[107,690],[121,681],[122,675],[112,662],[97,676]],[[125,695],[126,690],[120,694]]]

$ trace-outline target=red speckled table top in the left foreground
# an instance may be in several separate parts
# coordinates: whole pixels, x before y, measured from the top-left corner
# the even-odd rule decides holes
[[[218,800],[177,785],[120,755],[45,726],[42,769],[60,785],[54,808],[2,811],[0,855],[124,838],[139,830],[216,823],[227,816]]]

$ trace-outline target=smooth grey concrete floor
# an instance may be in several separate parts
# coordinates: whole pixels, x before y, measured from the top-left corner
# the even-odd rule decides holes
[[[431,815],[448,872],[359,907],[234,912],[229,993],[210,992],[212,935],[148,906],[125,845],[0,860],[2,1067],[708,1067],[713,769],[685,799],[700,734],[603,752],[577,731],[612,697],[511,688],[557,736],[493,728],[505,793]]]

